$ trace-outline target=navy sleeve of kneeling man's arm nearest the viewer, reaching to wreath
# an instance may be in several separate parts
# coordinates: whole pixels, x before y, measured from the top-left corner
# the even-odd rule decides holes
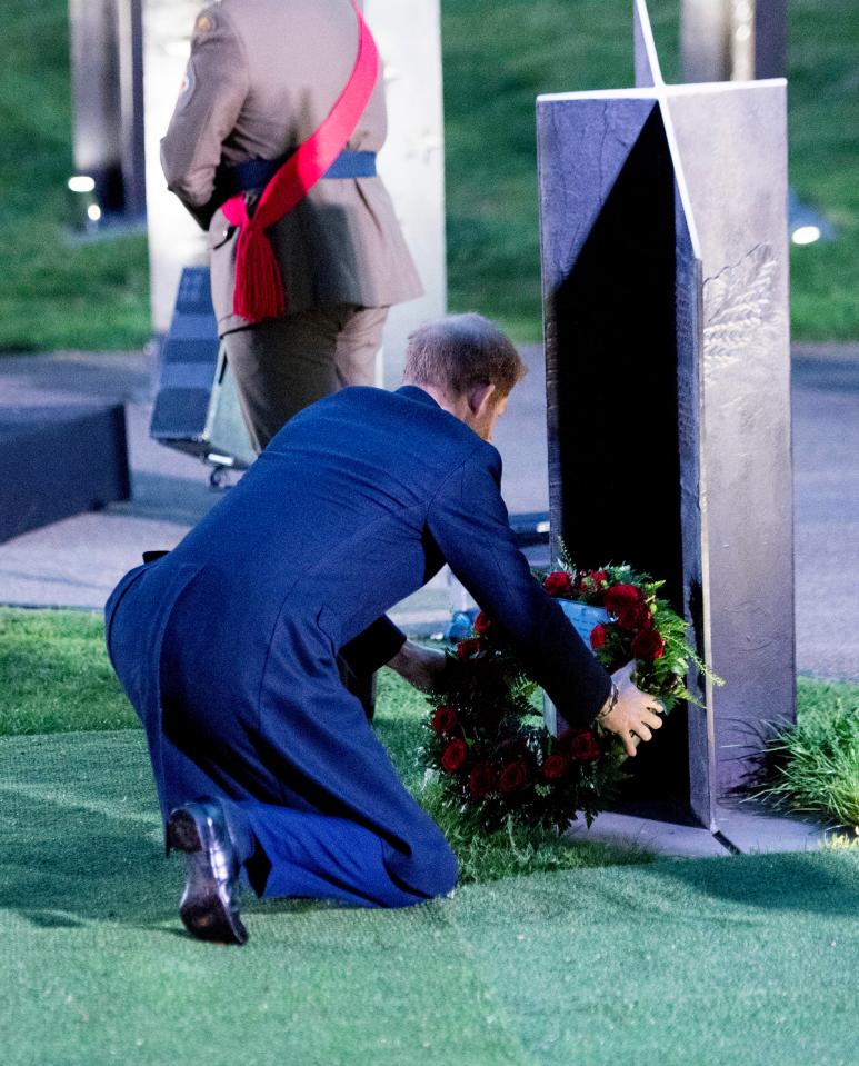
[[[531,575],[501,499],[501,458],[489,445],[442,485],[427,525],[451,570],[572,725],[589,724],[611,679]]]

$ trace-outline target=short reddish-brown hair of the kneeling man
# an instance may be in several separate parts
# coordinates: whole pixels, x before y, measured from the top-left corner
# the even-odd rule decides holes
[[[495,385],[500,396],[507,396],[527,372],[510,338],[473,312],[421,326],[406,348],[403,379],[453,396],[481,385]]]

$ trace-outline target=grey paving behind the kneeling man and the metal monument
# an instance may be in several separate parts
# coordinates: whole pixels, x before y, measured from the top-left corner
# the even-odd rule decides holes
[[[523,353],[530,373],[496,440],[511,512],[548,507],[542,355]],[[0,602],[100,609],[143,550],[173,547],[218,502],[202,464],[149,439],[151,375],[142,353],[0,359],[2,406],[93,399],[126,402],[133,499],[0,545]],[[793,431],[798,669],[859,680],[859,345],[796,348]],[[781,562],[773,559],[773,579]],[[394,615],[426,634],[468,602],[441,575]]]

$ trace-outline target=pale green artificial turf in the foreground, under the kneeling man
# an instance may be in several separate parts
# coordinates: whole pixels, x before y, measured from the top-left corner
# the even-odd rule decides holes
[[[177,917],[137,731],[0,739],[4,1066],[855,1066],[859,854],[538,874],[399,911]]]

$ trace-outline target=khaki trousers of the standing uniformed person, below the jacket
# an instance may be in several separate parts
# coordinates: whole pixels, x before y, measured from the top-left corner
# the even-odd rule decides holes
[[[226,333],[227,362],[259,454],[300,410],[347,385],[376,383],[387,307],[333,303]]]

